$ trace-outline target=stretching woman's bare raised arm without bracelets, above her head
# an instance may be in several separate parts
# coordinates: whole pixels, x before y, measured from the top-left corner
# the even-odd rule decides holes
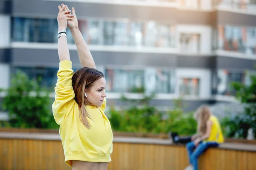
[[[66,8],[66,11],[69,11],[69,8],[66,5],[62,4],[62,7],[63,6]],[[84,40],[84,37],[82,36],[79,30],[75,8],[72,8],[72,13],[74,15],[73,20],[69,20],[67,22],[67,26],[70,28],[71,34],[76,43],[76,48],[77,48],[81,65],[83,67],[96,68],[95,62],[93,60],[93,56],[90,53],[90,50]],[[68,14],[71,14],[71,13],[68,13]]]

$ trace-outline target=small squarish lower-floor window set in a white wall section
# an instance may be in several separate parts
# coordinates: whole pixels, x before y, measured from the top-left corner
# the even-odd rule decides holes
[[[181,78],[180,95],[183,96],[199,96],[200,79],[199,78]]]

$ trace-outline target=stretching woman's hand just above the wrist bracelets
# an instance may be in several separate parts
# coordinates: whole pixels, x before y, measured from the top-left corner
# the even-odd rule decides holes
[[[58,6],[58,8],[59,8],[59,13],[58,13],[58,17],[57,17],[58,31],[65,31],[67,28],[67,21],[73,20],[72,17],[74,17],[74,15],[68,14],[68,13],[70,13],[70,11],[64,11],[65,6],[62,8],[61,8],[61,6]]]

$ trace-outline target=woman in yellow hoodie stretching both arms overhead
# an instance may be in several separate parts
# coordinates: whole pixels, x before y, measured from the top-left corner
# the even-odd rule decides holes
[[[105,116],[106,80],[96,70],[93,57],[78,28],[75,9],[58,6],[58,56],[60,59],[52,104],[64,148],[65,163],[73,170],[107,170],[113,134]],[[75,73],[67,45],[70,28],[83,68]]]

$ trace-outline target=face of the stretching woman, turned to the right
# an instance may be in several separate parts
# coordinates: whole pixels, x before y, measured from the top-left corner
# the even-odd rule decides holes
[[[96,106],[102,106],[104,98],[107,96],[105,93],[106,80],[104,77],[96,80],[90,91],[85,92],[87,95],[87,101]]]

